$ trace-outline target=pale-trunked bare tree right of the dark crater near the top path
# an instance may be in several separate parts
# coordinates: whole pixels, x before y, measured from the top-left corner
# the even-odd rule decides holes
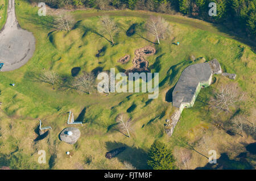
[[[169,23],[160,16],[150,16],[146,24],[147,31],[156,37],[158,44],[159,39],[164,39],[164,34],[168,32],[170,26]]]

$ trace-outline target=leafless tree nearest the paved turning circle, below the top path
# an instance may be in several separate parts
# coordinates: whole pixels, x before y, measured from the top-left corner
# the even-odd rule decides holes
[[[60,11],[56,15],[55,19],[56,29],[60,31],[71,31],[72,27],[75,24],[75,20],[71,15],[65,13],[64,11]]]

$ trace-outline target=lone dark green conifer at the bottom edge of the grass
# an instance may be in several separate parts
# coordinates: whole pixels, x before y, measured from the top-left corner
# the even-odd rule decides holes
[[[174,165],[175,159],[172,155],[172,151],[167,148],[166,144],[155,141],[151,145],[148,153],[148,166],[154,170],[173,170],[176,169]]]

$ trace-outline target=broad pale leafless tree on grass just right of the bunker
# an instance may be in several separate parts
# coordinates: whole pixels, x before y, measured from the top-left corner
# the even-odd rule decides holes
[[[210,100],[210,106],[223,111],[229,111],[231,106],[241,101],[244,94],[238,89],[234,83],[222,86],[219,92],[214,94],[214,98]]]

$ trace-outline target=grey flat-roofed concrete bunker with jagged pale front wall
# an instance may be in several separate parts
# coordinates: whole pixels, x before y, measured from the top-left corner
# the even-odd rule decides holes
[[[193,107],[200,90],[208,87],[213,74],[221,74],[220,63],[213,59],[202,64],[193,64],[183,70],[172,92],[172,105],[177,109],[167,121],[166,133],[171,136],[184,108]]]

